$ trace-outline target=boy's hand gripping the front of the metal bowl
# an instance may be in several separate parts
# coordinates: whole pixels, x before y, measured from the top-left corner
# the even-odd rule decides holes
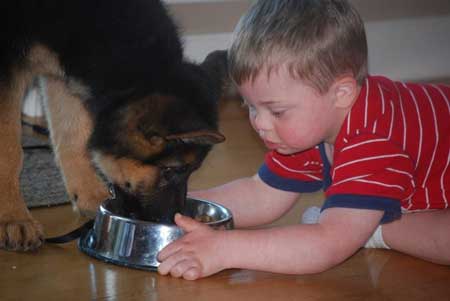
[[[209,226],[183,216],[175,215],[175,223],[185,235],[172,242],[158,254],[161,262],[158,272],[173,277],[195,280],[223,270],[226,254],[222,234]]]

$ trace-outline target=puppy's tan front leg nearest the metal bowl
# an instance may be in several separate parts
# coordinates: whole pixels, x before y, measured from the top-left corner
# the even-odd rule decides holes
[[[73,91],[66,82],[48,78],[41,87],[46,87],[46,113],[56,160],[61,168],[66,189],[72,203],[82,215],[93,216],[108,196],[108,189],[98,177],[87,150],[87,141],[92,132],[92,120],[83,106],[80,94],[88,93],[83,87]]]

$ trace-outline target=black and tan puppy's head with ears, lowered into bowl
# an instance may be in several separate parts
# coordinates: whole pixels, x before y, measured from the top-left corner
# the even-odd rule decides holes
[[[139,199],[185,194],[189,175],[224,140],[217,102],[225,77],[226,53],[216,52],[202,65],[177,66],[156,91],[98,113],[89,148],[100,172]]]

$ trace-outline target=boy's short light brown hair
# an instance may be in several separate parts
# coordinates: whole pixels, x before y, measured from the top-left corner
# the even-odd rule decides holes
[[[346,0],[260,0],[239,21],[228,54],[238,85],[286,65],[325,93],[336,78],[367,76],[364,24]]]

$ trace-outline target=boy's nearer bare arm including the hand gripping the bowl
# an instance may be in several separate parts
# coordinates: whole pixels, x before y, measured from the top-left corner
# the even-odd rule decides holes
[[[176,217],[186,235],[159,254],[158,271],[197,279],[228,268],[284,274],[325,271],[355,253],[378,226],[382,211],[329,208],[318,224],[217,231]]]

